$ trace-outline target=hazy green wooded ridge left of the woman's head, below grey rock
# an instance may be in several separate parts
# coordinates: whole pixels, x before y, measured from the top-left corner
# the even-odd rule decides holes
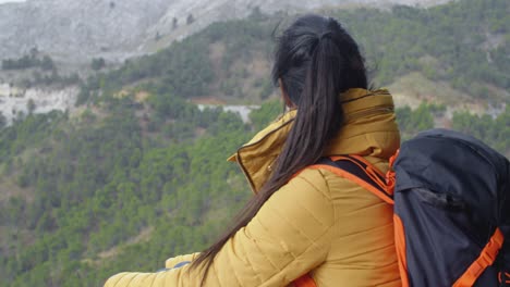
[[[253,102],[259,102],[272,92],[269,73],[267,70],[248,71],[246,64],[260,57],[269,58],[271,32],[276,25],[276,18],[266,17],[215,23],[168,49],[129,60],[117,71],[90,76],[82,86],[77,104],[95,101],[101,95],[133,83],[186,99],[252,97]],[[250,85],[243,87],[246,83]]]

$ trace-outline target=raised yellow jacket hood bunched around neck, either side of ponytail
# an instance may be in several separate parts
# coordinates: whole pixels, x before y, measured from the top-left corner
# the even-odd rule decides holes
[[[324,157],[360,154],[389,159],[400,146],[400,133],[388,90],[349,89],[340,97],[344,122]],[[254,192],[269,178],[296,112],[280,116],[229,158],[240,164]]]

